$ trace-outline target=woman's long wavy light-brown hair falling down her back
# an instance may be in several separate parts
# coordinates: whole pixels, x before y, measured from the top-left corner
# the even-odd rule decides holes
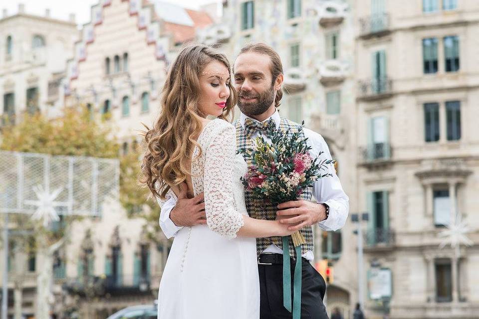
[[[161,111],[152,129],[146,127],[146,151],[141,164],[140,182],[154,196],[165,199],[171,186],[177,186],[191,175],[191,160],[196,140],[202,130],[201,119],[206,115],[198,108],[201,98],[200,74],[211,62],[224,64],[231,73],[226,56],[216,49],[194,44],[184,47],[173,64],[161,94]],[[233,81],[229,83],[230,97],[219,118],[233,119],[237,93]],[[201,148],[200,148],[201,155]]]

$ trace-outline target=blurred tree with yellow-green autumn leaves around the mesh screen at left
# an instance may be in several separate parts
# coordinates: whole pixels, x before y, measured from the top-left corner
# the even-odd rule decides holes
[[[0,150],[4,151],[118,158],[119,149],[113,129],[104,122],[93,120],[86,107],[65,109],[63,116],[55,119],[47,119],[41,114],[24,114],[20,123],[4,128],[0,134]],[[160,208],[158,204],[147,199],[147,189],[138,185],[139,157],[139,151],[134,150],[120,158],[120,202],[129,217],[143,217],[147,221],[154,221],[152,224],[156,226],[153,232],[157,232]],[[69,225],[78,218],[64,216],[62,224]],[[38,239],[38,254],[43,255],[42,259],[49,264],[43,265],[42,269],[51,269],[51,257],[64,241],[65,227],[45,229],[39,223],[32,223],[29,216],[22,214],[15,214],[12,219],[18,228],[32,231],[33,236]],[[48,278],[40,275],[39,285],[40,281],[48,282]],[[40,287],[38,291],[41,291]]]

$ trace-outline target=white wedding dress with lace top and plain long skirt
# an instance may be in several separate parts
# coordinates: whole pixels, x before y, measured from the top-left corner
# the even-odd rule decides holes
[[[256,241],[236,237],[240,214],[247,214],[240,181],[247,166],[235,155],[235,134],[216,119],[198,138],[202,155],[192,162],[192,183],[195,196],[205,193],[207,225],[175,236],[160,283],[159,319],[259,318]]]

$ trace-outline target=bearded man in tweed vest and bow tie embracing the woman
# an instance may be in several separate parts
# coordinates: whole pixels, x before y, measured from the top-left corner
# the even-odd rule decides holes
[[[275,129],[297,130],[299,124],[279,116],[277,108],[282,97],[283,69],[279,55],[263,43],[243,47],[234,65],[235,87],[239,93],[240,119],[235,123],[238,148],[249,147],[253,140],[270,126]],[[317,133],[304,129],[304,136],[312,148],[311,155],[331,159],[328,146]],[[267,140],[267,138],[266,138]],[[324,279],[311,266],[314,244],[312,225],[334,231],[343,227],[349,211],[349,198],[344,193],[334,167],[329,166],[332,177],[318,179],[313,188],[301,194],[299,200],[268,205],[245,190],[248,214],[257,219],[275,219],[290,224],[290,230],[299,230],[305,237],[301,258],[301,318],[327,319],[323,297],[326,291]],[[314,196],[317,203],[312,203]],[[160,226],[169,238],[183,226],[206,224],[203,194],[186,197],[186,188],[177,200],[170,199],[162,207]],[[295,250],[289,243],[291,278],[296,261]],[[257,238],[258,271],[260,285],[260,318],[286,319],[292,314],[283,306],[283,249],[281,237]],[[293,287],[293,282],[291,282]],[[294,297],[293,297],[294,298]]]

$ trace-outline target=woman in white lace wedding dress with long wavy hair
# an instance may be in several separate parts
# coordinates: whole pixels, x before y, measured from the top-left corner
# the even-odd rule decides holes
[[[237,94],[227,58],[196,44],[178,54],[168,72],[161,113],[145,133],[144,182],[161,200],[204,192],[206,225],[176,234],[158,295],[160,319],[257,319],[259,282],[255,237],[286,236],[277,220],[248,217],[228,120]],[[207,116],[216,117],[208,120]]]

